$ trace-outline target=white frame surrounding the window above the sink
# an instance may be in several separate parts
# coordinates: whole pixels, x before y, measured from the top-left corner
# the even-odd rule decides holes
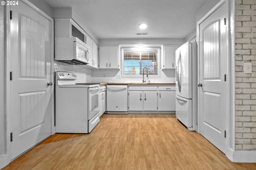
[[[160,77],[160,50],[161,48],[160,47],[143,47],[143,48],[140,48],[140,47],[121,47],[121,66],[122,66],[122,77],[142,77],[143,75],[140,74],[140,75],[127,75],[127,74],[124,74],[124,51],[126,50],[130,50],[130,51],[157,51],[157,75],[156,74],[148,74],[148,77]],[[145,74],[144,74],[145,76]]]

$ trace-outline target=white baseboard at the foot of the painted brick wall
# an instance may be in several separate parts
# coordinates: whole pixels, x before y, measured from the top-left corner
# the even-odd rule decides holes
[[[232,151],[228,149],[226,156],[232,162],[256,163],[256,151]]]

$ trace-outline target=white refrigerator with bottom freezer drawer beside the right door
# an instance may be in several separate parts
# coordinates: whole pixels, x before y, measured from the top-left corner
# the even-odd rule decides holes
[[[196,42],[176,52],[176,117],[188,130],[196,130]]]

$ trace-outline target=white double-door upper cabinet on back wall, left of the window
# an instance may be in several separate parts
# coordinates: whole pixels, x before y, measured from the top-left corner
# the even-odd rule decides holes
[[[100,68],[118,68],[120,58],[120,46],[101,46],[100,47]]]

